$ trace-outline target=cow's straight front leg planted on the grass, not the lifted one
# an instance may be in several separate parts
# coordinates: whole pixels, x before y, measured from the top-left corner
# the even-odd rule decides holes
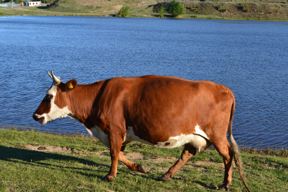
[[[121,134],[112,133],[109,135],[111,167],[109,173],[101,180],[113,181],[113,177],[116,177],[118,157],[122,142],[123,137],[121,136]]]

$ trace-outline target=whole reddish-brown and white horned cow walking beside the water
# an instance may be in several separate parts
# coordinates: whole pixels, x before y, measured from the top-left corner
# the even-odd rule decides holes
[[[241,179],[250,191],[238,145],[232,136],[235,99],[229,88],[211,81],[154,75],[115,77],[81,85],[76,79],[61,82],[53,70],[52,75],[48,74],[54,81],[33,118],[47,123],[59,117],[71,117],[109,147],[111,167],[102,180],[113,180],[117,161],[132,171],[146,173],[143,165],[124,156],[125,145],[131,141],[163,148],[184,146],[177,162],[158,178],[162,181],[170,180],[197,151],[213,144],[225,165],[220,189],[229,189],[235,157]]]

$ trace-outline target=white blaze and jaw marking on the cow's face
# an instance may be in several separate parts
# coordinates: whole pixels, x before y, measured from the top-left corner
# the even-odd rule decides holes
[[[73,113],[68,109],[68,106],[63,107],[60,109],[55,103],[55,96],[57,93],[57,84],[55,81],[53,81],[51,88],[46,92],[46,95],[52,95],[53,98],[51,99],[50,102],[50,111],[49,113],[43,113],[41,115],[35,114],[38,118],[44,117],[44,120],[42,123],[47,123],[47,121],[51,121],[53,119],[57,119],[60,117],[68,117],[69,115],[73,116]],[[72,117],[71,117],[72,118]]]

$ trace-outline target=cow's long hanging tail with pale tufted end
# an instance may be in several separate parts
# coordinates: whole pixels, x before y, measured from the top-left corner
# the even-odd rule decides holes
[[[234,94],[233,94],[232,91],[230,91],[229,94],[231,95],[231,97],[233,99],[233,103],[232,103],[232,107],[231,107],[230,120],[229,120],[229,126],[228,126],[228,134],[229,134],[230,146],[231,146],[231,149],[232,149],[232,151],[234,153],[234,160],[235,160],[236,166],[238,167],[238,170],[239,170],[239,173],[240,173],[240,178],[243,181],[243,184],[245,185],[246,189],[249,192],[251,192],[249,187],[246,184],[246,178],[245,178],[245,175],[244,175],[243,169],[242,169],[242,160],[241,160],[241,157],[240,157],[238,145],[237,145],[236,141],[234,140],[234,138],[232,136],[232,121],[233,121],[234,111],[235,111],[235,98],[234,98]]]

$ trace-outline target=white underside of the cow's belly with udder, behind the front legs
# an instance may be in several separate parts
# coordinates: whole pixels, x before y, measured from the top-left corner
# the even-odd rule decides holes
[[[198,125],[195,126],[195,131],[196,131],[195,134],[189,134],[189,135],[181,134],[179,136],[169,137],[167,141],[158,142],[157,145],[154,145],[136,136],[134,134],[133,128],[128,126],[125,137],[124,137],[123,145],[126,145],[130,141],[139,141],[139,142],[152,145],[155,147],[164,147],[164,148],[179,147],[187,143],[190,143],[196,149],[199,149],[202,147],[210,147],[212,145],[212,143],[209,141],[209,137],[203,131],[199,129]]]

